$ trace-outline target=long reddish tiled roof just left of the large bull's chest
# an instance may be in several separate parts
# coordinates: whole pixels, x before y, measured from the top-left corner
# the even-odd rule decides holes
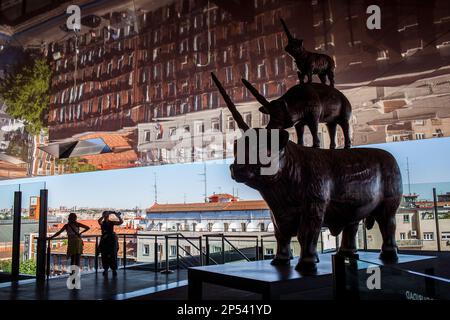
[[[166,212],[196,212],[196,211],[241,211],[241,210],[267,210],[269,206],[264,200],[209,202],[209,203],[155,203],[148,213]]]

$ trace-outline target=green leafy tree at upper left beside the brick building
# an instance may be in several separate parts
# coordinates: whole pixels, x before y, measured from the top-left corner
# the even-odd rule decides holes
[[[31,134],[44,129],[50,102],[51,69],[46,59],[35,58],[8,74],[0,83],[0,96],[6,103],[6,112],[25,121]]]

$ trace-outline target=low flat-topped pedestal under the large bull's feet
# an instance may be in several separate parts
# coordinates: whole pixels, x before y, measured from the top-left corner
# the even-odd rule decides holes
[[[318,288],[333,287],[332,255],[319,255],[317,273],[302,275],[295,270],[297,258],[290,266],[272,266],[271,260],[229,263],[193,267],[188,269],[188,294],[190,300],[201,300],[203,283],[259,293],[264,300],[277,300],[282,295]],[[384,265],[378,252],[358,252],[359,259]],[[400,254],[396,266],[424,271],[432,266],[435,257]],[[391,265],[391,264],[386,264]],[[421,270],[423,267],[423,270]],[[362,268],[360,268],[362,269]]]

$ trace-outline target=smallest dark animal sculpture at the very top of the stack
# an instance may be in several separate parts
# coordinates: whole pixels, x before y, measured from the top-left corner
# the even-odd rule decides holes
[[[320,82],[326,84],[328,77],[330,86],[334,87],[334,69],[336,67],[334,60],[326,54],[306,51],[303,47],[303,40],[292,36],[284,20],[281,18],[280,20],[288,38],[288,44],[284,50],[295,60],[299,70],[300,83],[304,82],[305,76],[308,77],[308,83],[311,83],[313,74],[317,74]]]

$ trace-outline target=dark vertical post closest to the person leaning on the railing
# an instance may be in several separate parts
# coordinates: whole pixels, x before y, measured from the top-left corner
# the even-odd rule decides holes
[[[45,281],[45,245],[47,243],[47,199],[48,190],[42,189],[40,192],[39,207],[39,237],[36,250],[36,280]]]

